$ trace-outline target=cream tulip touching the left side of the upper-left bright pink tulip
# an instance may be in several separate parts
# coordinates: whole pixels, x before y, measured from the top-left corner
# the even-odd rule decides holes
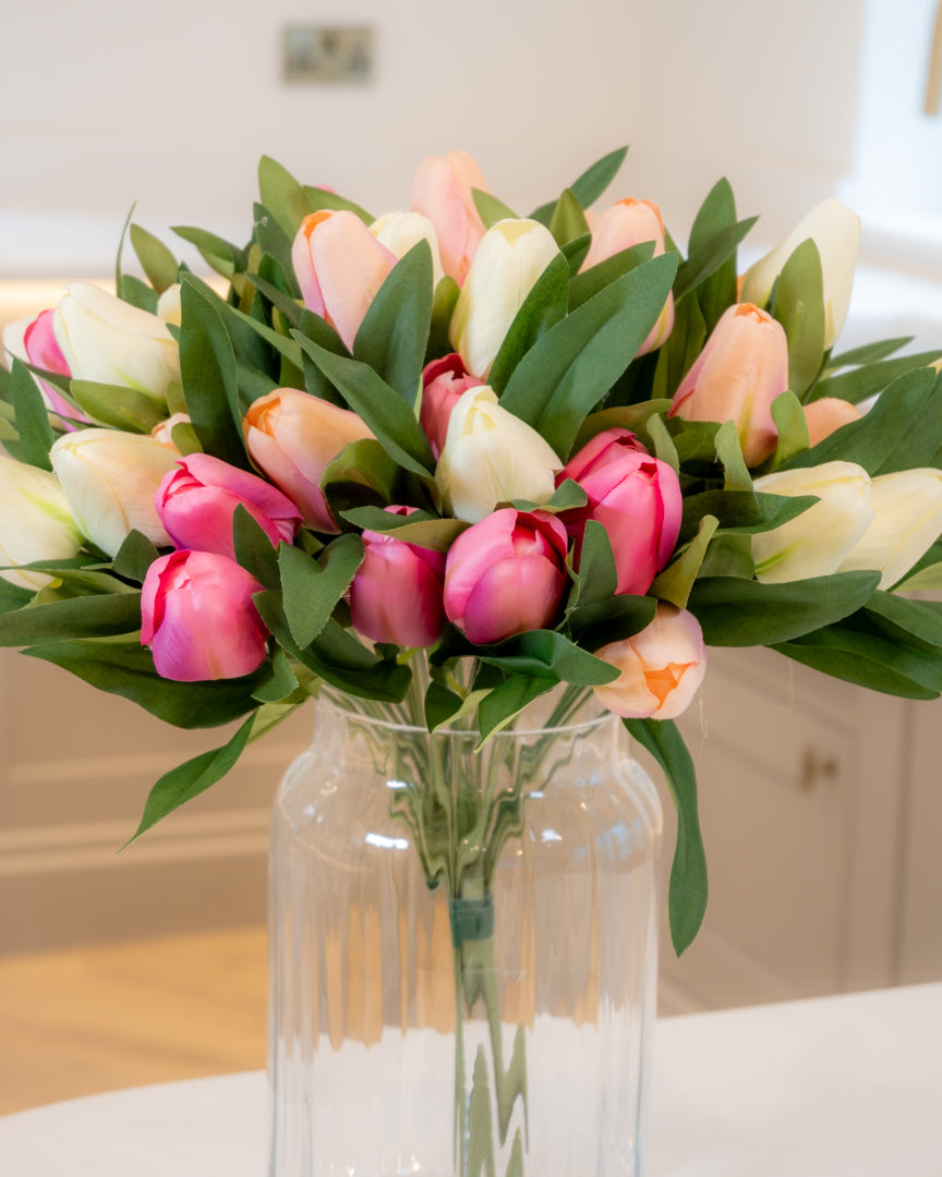
[[[108,556],[132,530],[158,547],[170,544],[154,498],[178,457],[150,435],[106,428],[68,433],[49,451],[82,534]]]

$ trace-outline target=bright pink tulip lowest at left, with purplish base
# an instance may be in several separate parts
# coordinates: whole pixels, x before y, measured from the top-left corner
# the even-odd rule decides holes
[[[141,591],[140,639],[153,651],[158,674],[197,683],[258,670],[268,637],[252,604],[261,588],[215,552],[171,552],[154,560]]]

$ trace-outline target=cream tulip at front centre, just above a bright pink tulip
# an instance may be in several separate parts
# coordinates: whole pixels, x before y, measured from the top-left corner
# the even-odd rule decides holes
[[[482,385],[462,393],[452,410],[434,480],[452,514],[477,523],[498,503],[549,503],[562,465],[539,433]]]

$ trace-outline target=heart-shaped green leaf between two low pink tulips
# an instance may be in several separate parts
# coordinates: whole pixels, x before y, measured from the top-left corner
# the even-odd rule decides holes
[[[334,539],[319,560],[290,544],[281,544],[278,565],[285,619],[300,649],[309,646],[324,630],[363,564],[363,540],[352,534]]]

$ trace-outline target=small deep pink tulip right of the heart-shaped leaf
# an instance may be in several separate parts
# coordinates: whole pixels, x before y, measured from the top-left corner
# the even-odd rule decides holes
[[[386,507],[411,514],[414,507]],[[406,649],[433,645],[445,625],[445,556],[376,531],[363,533],[363,564],[350,586],[353,629]]]

